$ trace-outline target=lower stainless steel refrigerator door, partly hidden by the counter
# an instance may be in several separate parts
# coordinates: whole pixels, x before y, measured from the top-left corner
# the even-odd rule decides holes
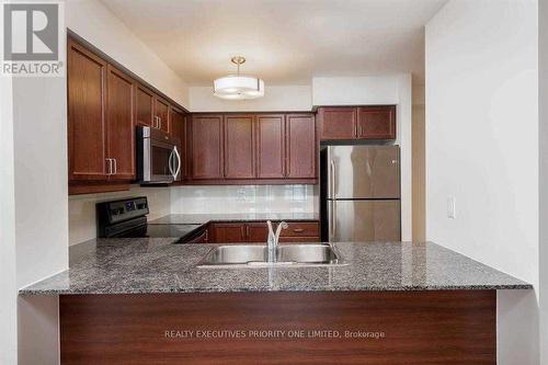
[[[330,242],[401,240],[400,201],[328,201]]]

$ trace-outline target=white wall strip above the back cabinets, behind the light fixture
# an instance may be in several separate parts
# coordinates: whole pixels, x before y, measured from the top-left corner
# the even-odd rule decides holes
[[[312,110],[310,85],[266,85],[264,96],[254,100],[222,100],[212,87],[191,87],[192,112],[307,112]]]

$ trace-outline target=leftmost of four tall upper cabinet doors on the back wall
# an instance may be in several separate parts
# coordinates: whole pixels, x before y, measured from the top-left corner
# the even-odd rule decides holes
[[[191,141],[192,179],[222,179],[222,115],[194,115]]]

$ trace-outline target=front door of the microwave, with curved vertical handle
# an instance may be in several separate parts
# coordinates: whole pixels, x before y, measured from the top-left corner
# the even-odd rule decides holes
[[[144,138],[141,183],[162,184],[181,180],[181,152],[175,145]]]

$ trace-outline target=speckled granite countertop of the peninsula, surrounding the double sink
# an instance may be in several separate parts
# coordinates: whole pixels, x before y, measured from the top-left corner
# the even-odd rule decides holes
[[[219,244],[175,238],[96,239],[71,248],[70,270],[21,295],[530,289],[532,285],[431,242],[334,243],[343,266],[198,269]]]

